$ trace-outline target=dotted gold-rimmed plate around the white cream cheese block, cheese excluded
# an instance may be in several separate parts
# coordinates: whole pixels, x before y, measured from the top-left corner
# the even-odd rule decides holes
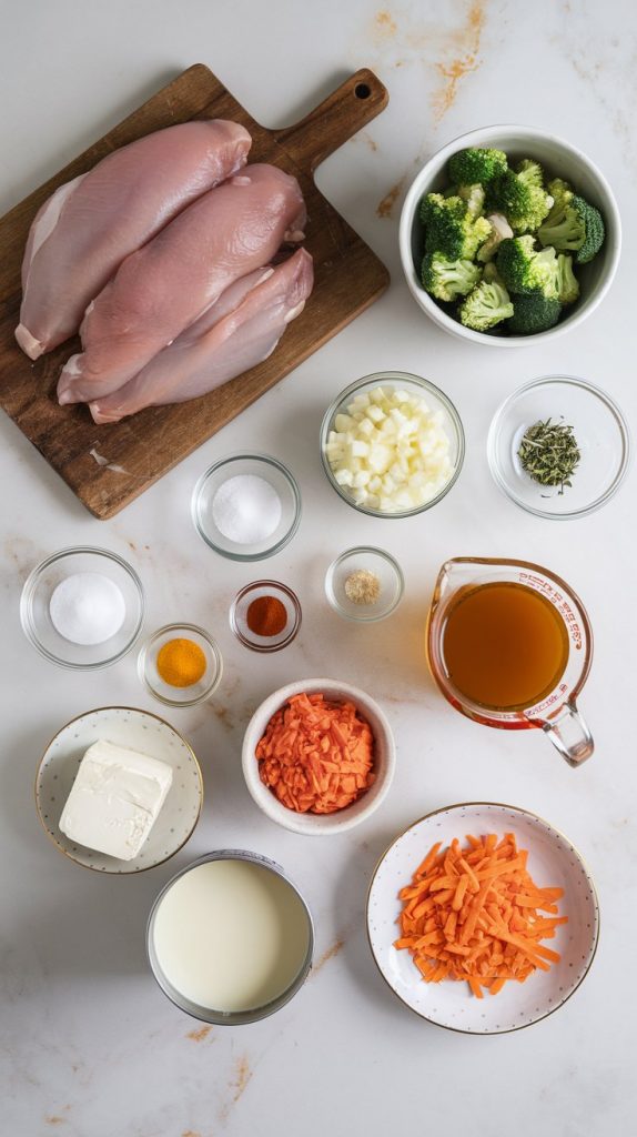
[[[77,767],[87,748],[100,738],[150,754],[173,767],[168,797],[148,840],[132,861],[118,861],[75,845],[59,829]],[[142,872],[168,861],[191,836],[202,799],[201,770],[185,739],[162,719],[133,707],[101,707],[73,719],[47,747],[35,779],[35,803],[48,836],[65,856],[99,872]]]

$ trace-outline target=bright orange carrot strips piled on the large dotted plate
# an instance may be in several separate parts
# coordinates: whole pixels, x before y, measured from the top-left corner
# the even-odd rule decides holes
[[[484,990],[497,995],[506,980],[523,982],[559,963],[559,953],[539,941],[568,916],[556,914],[563,889],[537,887],[513,833],[466,840],[464,849],[455,838],[446,849],[437,841],[401,889],[394,947],[411,952],[425,982],[462,979],[483,998]]]

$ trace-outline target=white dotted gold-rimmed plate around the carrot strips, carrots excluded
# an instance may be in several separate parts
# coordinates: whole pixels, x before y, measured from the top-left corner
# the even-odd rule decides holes
[[[435,841],[463,844],[475,837],[505,832],[516,835],[528,849],[528,870],[538,887],[563,888],[560,915],[569,922],[555,929],[550,941],[562,956],[550,971],[537,971],[526,982],[505,984],[497,995],[469,994],[467,984],[426,984],[411,953],[393,943],[400,931],[396,920],[402,904],[399,891],[411,882],[413,870]],[[412,1011],[438,1027],[468,1035],[497,1035],[520,1030],[561,1007],[585,978],[597,947],[600,910],[595,885],[579,853],[548,822],[526,810],[493,802],[451,805],[416,821],[382,857],[371,880],[367,904],[369,943],[383,978]]]

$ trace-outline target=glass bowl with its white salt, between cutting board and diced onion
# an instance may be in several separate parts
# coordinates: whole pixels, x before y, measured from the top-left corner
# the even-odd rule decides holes
[[[199,479],[192,518],[215,553],[231,561],[263,561],[285,548],[299,529],[301,491],[276,458],[233,455]]]

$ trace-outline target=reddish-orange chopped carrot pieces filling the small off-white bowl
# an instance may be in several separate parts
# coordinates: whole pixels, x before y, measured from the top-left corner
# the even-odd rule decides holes
[[[321,694],[288,699],[270,719],[255,754],[261,781],[297,813],[344,810],[375,779],[369,723],[353,703],[330,703]]]

